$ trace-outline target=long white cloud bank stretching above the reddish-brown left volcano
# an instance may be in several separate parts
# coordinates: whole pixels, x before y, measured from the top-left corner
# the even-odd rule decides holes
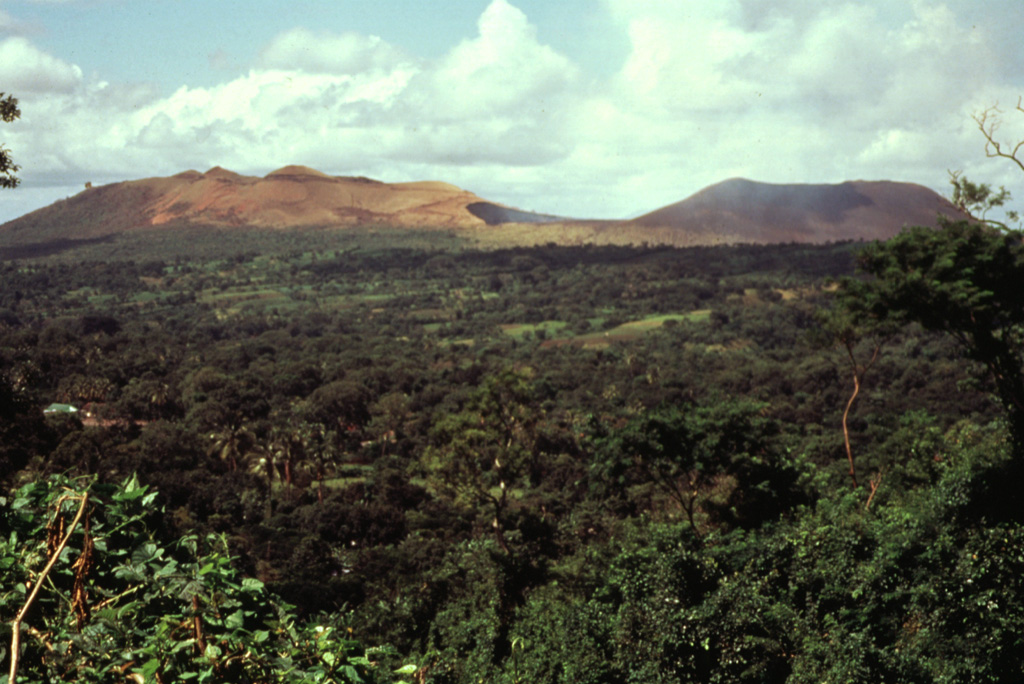
[[[374,37],[296,29],[271,41],[248,74],[217,86],[159,97],[101,83],[51,98],[39,117],[79,114],[59,136],[24,138],[54,173],[252,172],[294,162],[393,177],[536,166],[567,154],[559,126],[575,78],[521,11],[495,0],[479,35],[435,61],[404,58]]]

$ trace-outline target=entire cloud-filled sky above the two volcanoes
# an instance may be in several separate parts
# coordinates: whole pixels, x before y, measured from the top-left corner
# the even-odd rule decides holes
[[[1005,184],[1020,0],[0,0],[0,221],[93,184],[287,164],[627,217],[743,176]]]

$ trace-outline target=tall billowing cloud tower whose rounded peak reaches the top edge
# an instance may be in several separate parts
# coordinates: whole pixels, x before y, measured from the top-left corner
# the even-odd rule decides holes
[[[478,34],[418,71],[392,114],[388,155],[441,166],[538,166],[565,157],[579,69],[537,38],[526,15],[494,0]]]

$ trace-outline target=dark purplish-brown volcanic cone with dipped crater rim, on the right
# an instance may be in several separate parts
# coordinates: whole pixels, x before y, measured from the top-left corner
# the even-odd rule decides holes
[[[886,240],[904,225],[966,216],[937,193],[913,183],[851,181],[775,185],[734,178],[630,221],[675,230],[689,244],[824,243]]]

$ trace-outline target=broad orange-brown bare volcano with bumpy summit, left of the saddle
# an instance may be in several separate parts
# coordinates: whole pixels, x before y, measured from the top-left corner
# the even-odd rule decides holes
[[[2,232],[9,242],[41,242],[185,224],[480,228],[494,223],[479,216],[480,206],[528,215],[437,181],[385,183],[329,176],[304,166],[286,166],[259,178],[214,167],[88,188],[10,221]]]

